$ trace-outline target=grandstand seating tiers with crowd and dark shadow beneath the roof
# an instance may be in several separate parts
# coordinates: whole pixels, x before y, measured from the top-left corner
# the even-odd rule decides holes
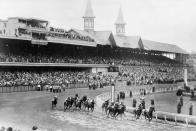
[[[60,30],[61,31],[61,30]],[[52,45],[39,46],[27,43],[0,45],[0,62],[6,63],[72,63],[108,64],[120,67],[119,75],[94,76],[92,73],[67,71],[0,71],[0,85],[20,84],[62,84],[89,83],[89,85],[108,85],[111,79],[126,81],[128,84],[144,85],[153,83],[174,83],[183,81],[184,65],[162,55],[145,54],[142,51],[123,52],[98,47],[77,47]],[[188,73],[188,79],[196,76]]]

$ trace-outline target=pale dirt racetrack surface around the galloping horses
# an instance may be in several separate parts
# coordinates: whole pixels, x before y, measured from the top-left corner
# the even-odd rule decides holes
[[[68,96],[76,93],[79,96],[87,95],[91,98],[109,91],[109,88],[88,90],[69,89],[63,93],[53,94],[50,92],[21,92],[0,94],[0,126],[12,126],[14,129],[31,131],[36,125],[41,130],[48,131],[86,131],[86,130],[187,130],[194,131],[195,127],[174,125],[163,121],[146,122],[144,119],[135,120],[131,114],[121,120],[107,118],[99,107],[95,107],[93,113],[87,112],[63,112],[63,102]],[[56,110],[51,110],[51,100],[54,95],[59,98]]]

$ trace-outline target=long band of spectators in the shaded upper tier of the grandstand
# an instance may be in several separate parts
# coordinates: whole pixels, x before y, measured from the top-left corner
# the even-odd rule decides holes
[[[79,63],[79,64],[110,64],[123,66],[179,66],[175,60],[164,56],[90,56],[90,55],[44,55],[44,54],[11,54],[0,53],[0,62],[25,63]]]

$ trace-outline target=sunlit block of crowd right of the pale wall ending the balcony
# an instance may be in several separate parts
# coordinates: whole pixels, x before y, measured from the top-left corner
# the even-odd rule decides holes
[[[175,83],[183,81],[183,67],[170,66],[123,66],[119,78],[128,85]]]

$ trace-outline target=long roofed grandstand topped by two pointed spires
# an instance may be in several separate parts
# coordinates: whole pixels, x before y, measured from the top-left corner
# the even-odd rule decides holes
[[[1,20],[0,70],[1,74],[8,74],[2,78],[1,85],[15,80],[10,79],[11,72],[21,76],[21,71],[25,71],[24,76],[29,72],[38,72],[35,76],[46,74],[45,79],[56,71],[65,74],[67,71],[119,72],[118,80],[138,85],[183,81],[188,53],[177,45],[126,36],[121,8],[115,22],[115,35],[112,31],[94,30],[95,15],[90,2],[83,19],[83,30],[54,28],[49,21],[36,18]],[[90,78],[84,79],[90,81]]]

